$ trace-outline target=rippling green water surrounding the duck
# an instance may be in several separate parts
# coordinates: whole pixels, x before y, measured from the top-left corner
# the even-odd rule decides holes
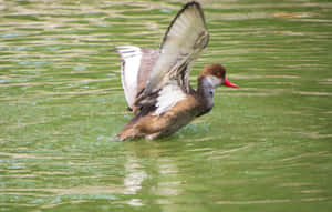
[[[332,2],[201,0],[239,89],[157,141],[111,51],[157,48],[181,1],[0,0],[0,211],[332,211]]]

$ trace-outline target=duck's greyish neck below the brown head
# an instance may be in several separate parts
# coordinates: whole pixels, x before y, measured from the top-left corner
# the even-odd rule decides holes
[[[200,102],[201,112],[207,113],[214,108],[214,94],[215,94],[215,85],[211,81],[206,78],[198,78],[197,81],[197,95]]]

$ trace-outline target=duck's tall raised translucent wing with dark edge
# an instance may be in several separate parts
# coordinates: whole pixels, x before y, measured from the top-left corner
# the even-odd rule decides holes
[[[207,46],[208,38],[200,4],[195,1],[187,3],[169,26],[160,46],[159,57],[135,104],[151,102],[149,99],[157,98],[155,93],[170,81],[177,81],[185,92],[189,92],[189,64]]]

